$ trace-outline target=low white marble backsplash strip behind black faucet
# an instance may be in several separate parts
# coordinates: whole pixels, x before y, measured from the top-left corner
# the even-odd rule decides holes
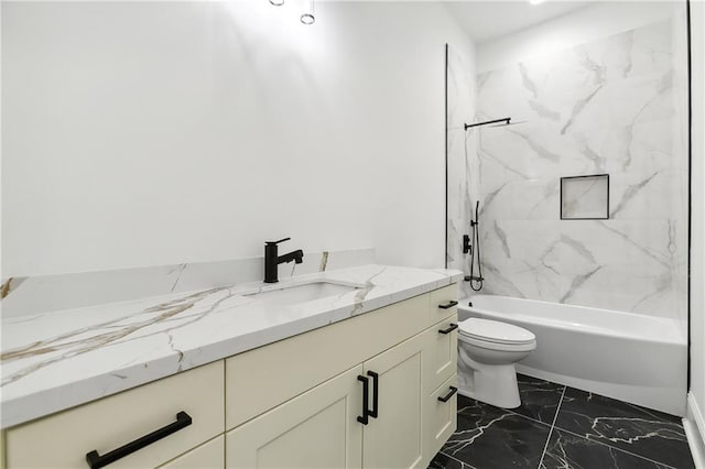
[[[294,248],[291,248],[294,249]],[[289,252],[286,246],[281,252]],[[303,263],[281,264],[279,277],[376,262],[375,249],[304,252]],[[264,277],[264,258],[2,280],[2,317],[42,314],[172,293],[193,292]]]

